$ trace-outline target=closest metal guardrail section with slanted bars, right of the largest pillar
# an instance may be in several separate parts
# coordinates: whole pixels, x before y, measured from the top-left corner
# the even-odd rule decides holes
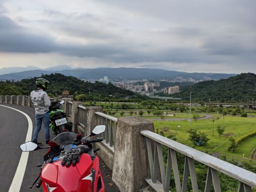
[[[205,154],[194,148],[190,148],[186,145],[170,140],[151,131],[141,131],[140,133],[145,136],[151,173],[151,178],[146,179],[145,181],[157,192],[169,192],[172,170],[174,173],[175,187],[177,192],[187,191],[189,173],[191,177],[193,192],[198,192],[194,160],[208,167],[205,192],[209,192],[211,190],[212,181],[215,192],[221,192],[218,172],[222,172],[225,175],[239,180],[238,192],[251,192],[251,187],[256,188],[256,174],[253,172],[242,169],[231,163],[227,163],[216,157],[212,157],[209,154]],[[154,142],[154,156],[152,155],[152,141]],[[165,145],[169,148],[166,171],[163,162],[162,145]],[[177,166],[176,152],[185,155],[182,186],[180,185],[180,175]],[[162,183],[157,180],[159,166]]]

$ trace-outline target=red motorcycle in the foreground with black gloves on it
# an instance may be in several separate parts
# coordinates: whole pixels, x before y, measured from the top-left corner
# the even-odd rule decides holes
[[[37,165],[41,167],[41,172],[32,186],[35,183],[37,188],[42,185],[44,192],[104,192],[99,157],[94,154],[99,151],[99,148],[93,149],[91,145],[91,143],[102,141],[102,138],[87,139],[104,131],[105,125],[98,125],[87,137],[82,138],[80,134],[63,132],[46,147],[30,141],[20,145],[22,151],[49,148],[44,155],[44,163]],[[71,162],[69,162],[70,159]],[[29,188],[31,189],[32,186]]]

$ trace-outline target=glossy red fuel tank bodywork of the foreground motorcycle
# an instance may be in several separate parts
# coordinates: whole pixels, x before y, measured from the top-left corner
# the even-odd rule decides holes
[[[88,154],[82,154],[75,166],[62,166],[61,160],[47,163],[41,173],[44,192],[91,192],[92,166]]]

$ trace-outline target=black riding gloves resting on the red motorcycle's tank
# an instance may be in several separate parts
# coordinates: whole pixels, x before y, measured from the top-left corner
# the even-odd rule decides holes
[[[70,166],[71,163],[72,165],[76,165],[80,160],[80,155],[88,151],[89,148],[87,145],[78,145],[76,148],[70,149],[64,156],[61,165],[64,166],[66,164],[66,167]]]

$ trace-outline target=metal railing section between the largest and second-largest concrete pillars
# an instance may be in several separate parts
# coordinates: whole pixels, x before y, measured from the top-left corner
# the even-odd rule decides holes
[[[116,122],[117,118],[105,113],[96,112],[98,125],[106,125],[106,130],[102,133],[103,143],[113,149],[116,142]]]

